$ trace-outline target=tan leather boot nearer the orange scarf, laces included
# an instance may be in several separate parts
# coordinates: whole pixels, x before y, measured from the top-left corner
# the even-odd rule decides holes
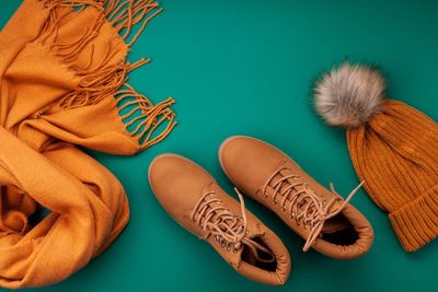
[[[168,213],[207,241],[238,272],[273,285],[284,284],[290,257],[281,241],[240,202],[227,195],[204,168],[163,154],[149,166],[149,182]]]

